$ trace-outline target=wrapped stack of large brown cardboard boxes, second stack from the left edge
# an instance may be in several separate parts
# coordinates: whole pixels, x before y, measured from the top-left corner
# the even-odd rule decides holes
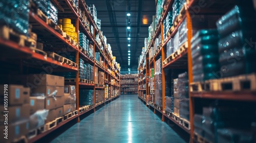
[[[38,102],[42,104],[45,100],[45,108],[48,111],[46,117],[46,123],[55,120],[55,118],[63,116],[64,105],[64,77],[53,75],[29,75],[28,83],[35,84],[35,81],[39,81],[39,85],[36,88],[31,88],[30,106],[34,110],[40,110],[41,105],[33,104]],[[38,106],[38,107],[34,107]],[[31,113],[33,110],[31,111]],[[32,114],[31,114],[32,115]]]

